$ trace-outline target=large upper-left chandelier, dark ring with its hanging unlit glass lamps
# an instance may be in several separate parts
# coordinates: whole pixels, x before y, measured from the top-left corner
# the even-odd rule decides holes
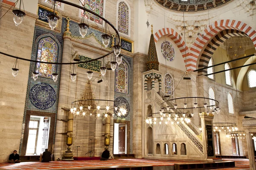
[[[23,17],[26,16],[26,13],[24,11],[23,0],[17,0],[12,5],[12,7],[15,8],[15,6],[17,5],[18,2],[20,3],[19,9],[14,9],[12,11],[13,14],[14,14],[13,20],[14,20],[16,26],[19,26],[22,23],[22,21],[23,21]],[[64,3],[64,4],[67,4],[67,5],[79,8],[79,9],[84,11],[84,14],[85,14],[85,12],[87,12],[88,14],[95,15],[95,16],[99,17],[100,19],[104,20],[105,21],[105,26],[104,26],[104,29],[102,30],[102,36],[101,36],[102,37],[102,44],[104,45],[104,47],[108,47],[109,44],[110,44],[111,35],[108,34],[108,32],[110,33],[108,26],[110,26],[116,32],[116,45],[113,45],[112,50],[108,54],[105,54],[105,55],[102,55],[102,56],[100,56],[98,58],[90,59],[90,60],[87,60],[87,61],[81,61],[79,58],[75,58],[74,59],[75,62],[37,61],[37,60],[33,60],[33,59],[26,59],[26,58],[23,58],[23,57],[17,57],[17,56],[14,56],[14,55],[11,55],[11,54],[6,54],[6,53],[3,53],[3,52],[0,51],[0,54],[6,55],[8,57],[16,58],[14,66],[12,68],[12,75],[13,75],[13,77],[16,77],[17,74],[18,74],[18,71],[19,71],[18,59],[20,59],[20,60],[25,60],[25,61],[33,62],[33,63],[35,63],[35,65],[37,65],[37,63],[44,63],[44,64],[50,64],[50,65],[73,65],[73,69],[72,69],[72,72],[71,72],[70,76],[71,76],[72,81],[74,82],[76,80],[76,71],[74,69],[74,65],[75,64],[93,62],[93,61],[105,58],[105,57],[109,56],[112,53],[116,56],[115,59],[112,58],[113,61],[111,61],[111,69],[114,71],[116,69],[116,64],[119,65],[122,62],[122,54],[121,54],[121,46],[120,46],[120,36],[119,36],[119,33],[116,30],[116,28],[113,26],[113,24],[111,24],[108,20],[106,20],[104,17],[100,16],[99,14],[95,13],[94,11],[91,11],[91,10],[85,8],[85,6],[79,6],[77,4],[70,3],[70,2],[67,2],[65,0],[54,0],[54,3],[52,5],[53,6],[53,14],[49,14],[47,16],[48,19],[49,19],[49,27],[51,28],[51,30],[55,30],[55,28],[57,26],[57,23],[58,23],[58,20],[59,20],[59,17],[55,14],[55,3],[56,2]],[[21,4],[23,5],[23,11],[21,11]],[[9,8],[9,10],[11,8]],[[87,23],[84,22],[84,16],[81,19],[81,23],[78,24],[78,27],[79,27],[79,32],[81,34],[81,37],[85,37],[85,35],[87,34],[87,31],[89,29],[89,23],[88,23],[88,20],[87,20]],[[108,28],[108,31],[107,31],[107,28]],[[56,34],[56,31],[55,31],[55,34]],[[56,39],[56,37],[55,37],[55,39]],[[55,53],[56,53],[56,51],[55,51]],[[102,76],[105,75],[106,69],[107,68],[104,67],[104,66],[102,66],[100,68]],[[38,71],[36,71],[34,69],[34,72],[33,72],[33,79],[34,80],[38,79],[38,74],[39,74]],[[87,75],[88,75],[88,79],[90,79],[93,76],[93,72],[89,70],[89,71],[87,71]],[[57,79],[58,79],[58,74],[57,73],[52,73],[52,79],[56,82]]]

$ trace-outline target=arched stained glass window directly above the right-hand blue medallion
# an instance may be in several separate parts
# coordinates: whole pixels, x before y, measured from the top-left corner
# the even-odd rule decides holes
[[[128,65],[125,61],[116,68],[115,91],[128,94]]]

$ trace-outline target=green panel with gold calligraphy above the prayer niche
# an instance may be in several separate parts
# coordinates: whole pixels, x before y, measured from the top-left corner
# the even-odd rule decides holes
[[[92,60],[92,58],[81,56],[81,55],[79,55],[79,59],[81,61],[90,61],[90,60]],[[99,72],[100,67],[101,67],[101,63],[102,63],[101,61],[95,60],[95,61],[92,61],[92,62],[78,64],[78,67],[79,68],[85,68],[85,69],[88,69],[88,70],[90,69],[92,71]]]

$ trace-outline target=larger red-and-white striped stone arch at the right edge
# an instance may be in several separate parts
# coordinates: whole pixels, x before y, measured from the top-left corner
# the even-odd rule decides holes
[[[243,23],[237,20],[215,21],[214,23],[209,25],[203,31],[203,33],[196,38],[194,45],[192,46],[192,48],[190,48],[189,57],[194,58],[196,62],[191,61],[192,62],[191,64],[193,64],[193,68],[192,69],[189,68],[188,69],[189,71],[196,69],[198,58],[200,59],[204,48],[206,48],[207,44],[209,44],[209,42],[212,40],[212,37],[215,37],[218,33],[227,29],[243,32],[248,37],[250,37],[250,39],[253,41],[253,44],[256,48],[256,31],[246,23]],[[198,68],[199,68],[199,65],[198,65]]]

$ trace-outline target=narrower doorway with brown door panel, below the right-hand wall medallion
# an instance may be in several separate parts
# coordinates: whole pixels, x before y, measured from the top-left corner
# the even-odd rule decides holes
[[[127,154],[127,125],[114,124],[114,154]]]

